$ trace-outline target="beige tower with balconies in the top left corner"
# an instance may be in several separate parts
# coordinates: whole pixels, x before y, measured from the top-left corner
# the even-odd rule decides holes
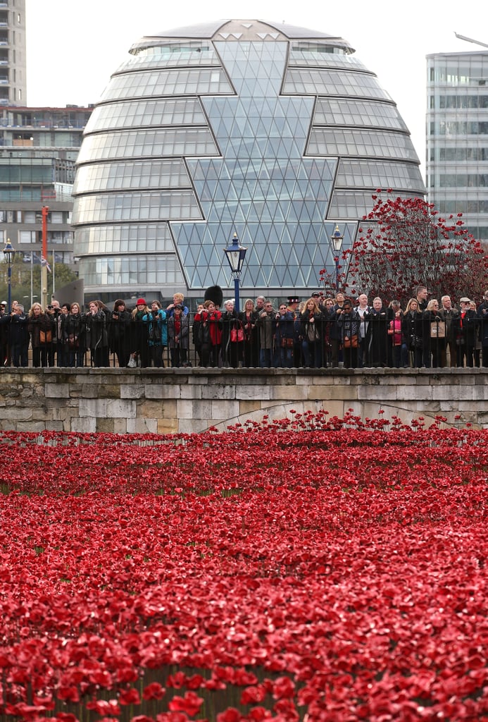
[[[0,105],[26,105],[25,0],[0,0]]]

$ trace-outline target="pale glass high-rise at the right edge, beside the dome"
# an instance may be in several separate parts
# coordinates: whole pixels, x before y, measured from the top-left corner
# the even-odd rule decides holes
[[[488,243],[488,50],[427,56],[426,160],[429,201]]]

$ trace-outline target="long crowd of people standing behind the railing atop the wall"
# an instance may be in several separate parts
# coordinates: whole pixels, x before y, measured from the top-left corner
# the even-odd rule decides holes
[[[488,290],[458,307],[429,295],[418,286],[405,308],[341,292],[290,296],[275,308],[259,295],[238,313],[215,286],[195,314],[182,293],[167,308],[138,298],[132,309],[92,300],[85,311],[53,300],[25,313],[14,301],[0,305],[0,353],[17,367],[29,365],[30,349],[34,367],[488,367]]]

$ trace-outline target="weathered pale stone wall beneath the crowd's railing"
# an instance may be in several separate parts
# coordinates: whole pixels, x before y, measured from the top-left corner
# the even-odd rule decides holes
[[[488,369],[0,370],[0,430],[200,432],[290,409],[488,428]]]

